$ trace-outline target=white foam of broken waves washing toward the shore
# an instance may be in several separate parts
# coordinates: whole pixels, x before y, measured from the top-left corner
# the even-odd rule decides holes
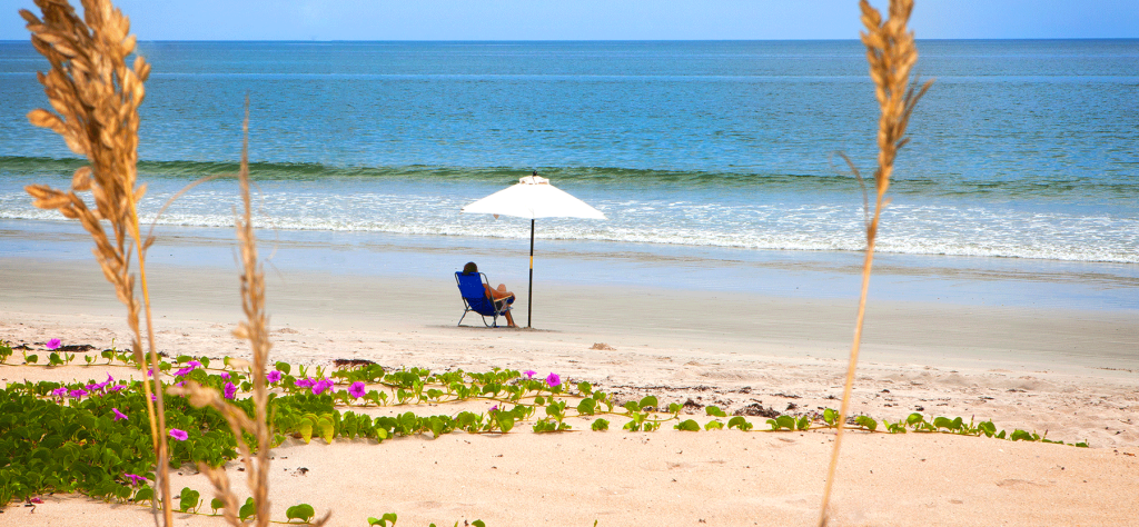
[[[153,209],[162,196],[150,199]],[[265,193],[257,200],[260,229],[388,232],[420,236],[527,238],[528,222],[460,214],[468,199],[437,195]],[[183,197],[158,219],[162,225],[231,228],[233,197]],[[862,250],[862,211],[855,205],[779,203],[749,205],[596,200],[609,221],[541,220],[542,239],[671,244],[776,250]],[[24,197],[0,196],[0,217],[57,220]],[[150,223],[153,214],[144,213]],[[1139,263],[1139,220],[1074,215],[999,206],[894,205],[877,245],[884,253]]]

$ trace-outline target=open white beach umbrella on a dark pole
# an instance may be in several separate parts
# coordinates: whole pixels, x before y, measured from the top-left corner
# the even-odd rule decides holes
[[[534,220],[539,217],[585,217],[605,220],[605,214],[565,190],[550,184],[535,172],[518,180],[518,183],[499,190],[466,207],[465,213],[493,214],[494,217],[516,216],[530,219],[530,293],[526,298],[526,327],[534,302]]]

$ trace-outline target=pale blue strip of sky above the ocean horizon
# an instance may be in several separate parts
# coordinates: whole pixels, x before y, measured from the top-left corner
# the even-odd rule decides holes
[[[77,5],[79,0],[73,0]],[[874,0],[884,7],[885,0]],[[855,0],[118,0],[140,40],[854,39]],[[0,0],[0,40],[24,40]],[[1139,0],[917,0],[919,39],[1139,38]]]

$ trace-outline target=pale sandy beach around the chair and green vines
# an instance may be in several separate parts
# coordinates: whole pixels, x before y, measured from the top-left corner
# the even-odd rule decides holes
[[[236,274],[224,267],[149,270],[157,345],[167,354],[246,356]],[[50,338],[96,348],[129,341],[122,308],[90,262],[0,260],[0,338],[42,348]],[[273,361],[385,368],[557,372],[618,401],[656,395],[729,414],[837,407],[854,300],[694,294],[645,287],[543,285],[535,329],[486,329],[467,318],[450,277],[270,271]],[[595,302],[582,302],[583,298]],[[674,306],[683,305],[677,310]],[[518,320],[525,323],[524,307]],[[833,501],[834,525],[1136,525],[1139,503],[1139,323],[1129,311],[874,302],[853,411],[992,420],[1090,448],[949,435],[853,433]],[[103,378],[103,367],[0,367],[2,382]],[[113,367],[116,377],[130,374]],[[489,407],[491,403],[483,406]],[[477,410],[485,410],[476,406]],[[383,413],[390,409],[378,409]],[[418,413],[456,413],[425,406]],[[762,417],[748,417],[756,429]],[[811,525],[830,431],[681,433],[671,423],[567,434],[523,427],[506,436],[450,434],[287,442],[273,451],[272,497],[334,511],[330,525]],[[232,464],[232,463],[231,463]],[[300,470],[300,469],[306,470]],[[208,495],[183,468],[177,488]],[[232,472],[237,474],[237,472]],[[233,477],[233,476],[231,476]],[[233,479],[238,479],[233,477]],[[240,494],[240,491],[239,491]],[[148,525],[148,510],[82,496],[10,507],[5,522]],[[80,516],[82,514],[82,516]],[[178,525],[218,518],[175,516]],[[18,519],[18,520],[17,520]]]

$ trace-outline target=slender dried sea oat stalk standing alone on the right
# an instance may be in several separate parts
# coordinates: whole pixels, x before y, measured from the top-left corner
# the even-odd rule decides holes
[[[913,42],[913,32],[907,27],[913,0],[891,0],[890,18],[883,22],[882,14],[870,7],[867,0],[860,0],[862,9],[862,43],[866,46],[867,61],[870,64],[870,79],[875,85],[875,97],[882,109],[878,120],[878,168],[874,173],[876,200],[874,216],[866,224],[866,261],[862,265],[862,294],[859,298],[858,320],[854,326],[854,341],[851,346],[850,363],[846,370],[846,384],[843,388],[842,406],[838,410],[838,427],[835,435],[835,447],[827,469],[827,484],[822,492],[822,505],[819,513],[819,526],[827,525],[827,505],[830,501],[830,489],[838,466],[838,452],[843,442],[843,426],[850,412],[851,389],[854,385],[854,372],[858,369],[859,346],[862,340],[862,321],[866,316],[866,297],[870,287],[870,269],[874,265],[874,247],[878,236],[878,220],[882,209],[890,203],[886,190],[890,189],[890,176],[894,171],[894,158],[909,139],[906,138],[906,126],[918,100],[932,85],[927,81],[920,87],[911,81],[910,72],[918,60],[918,49]],[[849,160],[847,160],[849,163]],[[851,168],[854,168],[851,165]],[[855,175],[858,171],[855,170]],[[861,179],[861,178],[860,178]]]

